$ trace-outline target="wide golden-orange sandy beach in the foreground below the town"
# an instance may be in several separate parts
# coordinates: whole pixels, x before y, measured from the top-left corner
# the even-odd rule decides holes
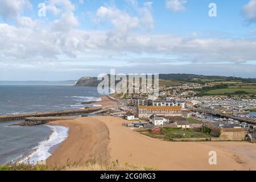
[[[161,170],[256,170],[256,145],[249,142],[166,142],[122,126],[118,117],[84,117],[52,122],[70,128],[69,137],[47,159],[48,164],[79,163],[100,155],[110,162]],[[217,164],[210,165],[210,151]]]

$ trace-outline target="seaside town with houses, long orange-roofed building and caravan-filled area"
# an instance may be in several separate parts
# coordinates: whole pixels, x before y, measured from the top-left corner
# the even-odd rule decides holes
[[[255,143],[256,113],[253,111],[256,99],[193,96],[193,89],[207,86],[210,85],[160,86],[160,99],[157,100],[149,99],[147,94],[130,94],[126,96],[126,106],[119,108],[125,112],[112,115],[133,121],[125,126],[154,138],[172,141],[247,140]]]

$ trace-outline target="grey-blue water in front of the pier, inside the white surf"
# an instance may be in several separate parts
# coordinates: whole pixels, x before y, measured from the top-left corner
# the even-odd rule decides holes
[[[20,160],[48,140],[52,130],[48,126],[9,126],[15,122],[0,122],[0,164]]]

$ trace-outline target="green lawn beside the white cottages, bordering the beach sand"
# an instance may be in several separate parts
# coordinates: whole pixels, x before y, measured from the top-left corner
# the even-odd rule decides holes
[[[193,129],[183,130],[181,128],[171,127],[163,127],[162,133],[151,133],[150,130],[140,131],[140,133],[147,135],[148,137],[164,139],[167,141],[172,140],[172,138],[213,138],[212,135],[201,131],[194,131]]]

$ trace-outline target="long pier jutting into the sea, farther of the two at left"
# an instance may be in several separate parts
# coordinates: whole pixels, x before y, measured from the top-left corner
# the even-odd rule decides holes
[[[62,110],[62,111],[44,111],[36,113],[26,113],[26,114],[11,114],[11,115],[0,115],[0,122],[3,121],[15,121],[25,118],[32,117],[56,117],[63,115],[76,115],[76,114],[89,114],[101,110],[102,107],[90,107],[86,109],[74,109],[74,110]]]

